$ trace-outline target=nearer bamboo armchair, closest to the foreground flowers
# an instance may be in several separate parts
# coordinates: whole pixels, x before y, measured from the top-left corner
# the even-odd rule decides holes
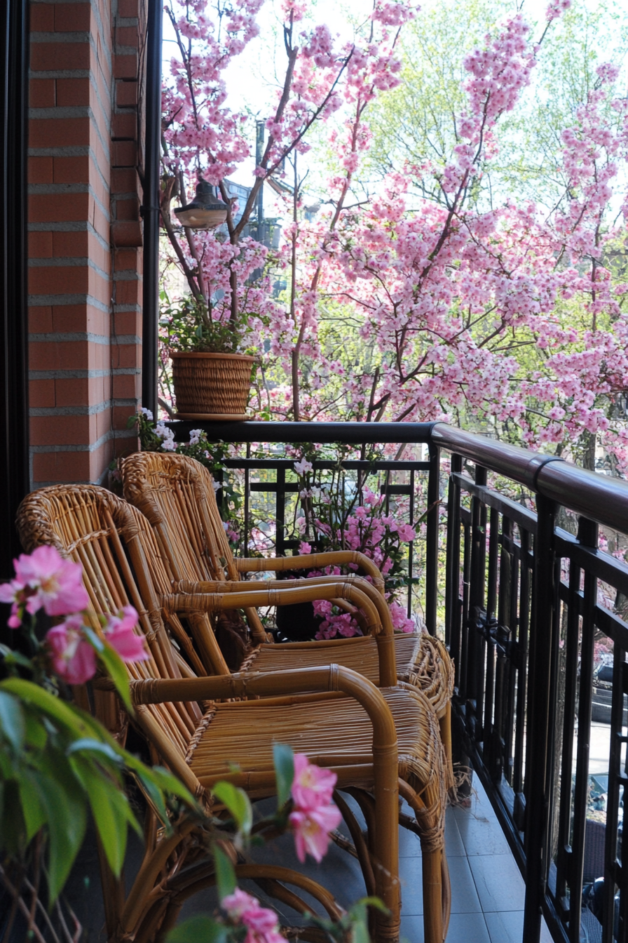
[[[160,556],[153,534],[133,507],[104,488],[41,488],[24,499],[18,528],[26,550],[52,544],[83,564],[95,631],[100,630],[99,614],[116,612],[124,604],[136,606],[151,657],[128,666],[136,705],[133,722],[201,802],[211,807],[208,789],[219,779],[242,786],[251,798],[273,795],[276,740],[337,773],[338,788],[355,796],[367,821],[364,838],[339,797],[367,893],[377,894],[389,910],[375,916],[378,943],[398,939],[398,796],[403,796],[411,805],[422,843],[425,939],[442,943],[450,903],[443,852],[443,750],[437,720],[420,691],[410,686],[378,689],[362,675],[333,664],[197,677],[172,647],[162,611],[170,618],[173,613],[198,611],[199,606],[231,608],[246,602],[244,594],[217,594],[209,600],[179,594],[158,600],[147,576],[149,558]],[[290,604],[311,600],[317,592],[359,605],[369,623],[382,630],[376,606],[347,583],[258,590],[251,601],[260,604],[265,596],[266,604]],[[392,647],[391,651],[394,654]],[[103,679],[100,687],[107,683]],[[108,696],[103,690],[95,694],[101,699]],[[226,700],[234,698],[259,700]],[[238,764],[237,771],[232,761]],[[160,926],[173,924],[185,896],[211,883],[213,869],[203,857],[196,831],[193,841],[191,822],[184,835],[180,831],[168,838],[153,819],[144,861],[125,901],[120,885],[105,874],[112,938],[149,943]],[[315,891],[314,882],[314,888],[306,886],[296,873],[246,867],[253,868],[250,876],[270,881],[284,902],[300,900],[284,887],[284,880]],[[337,913],[329,892],[320,888],[314,896],[328,913]]]

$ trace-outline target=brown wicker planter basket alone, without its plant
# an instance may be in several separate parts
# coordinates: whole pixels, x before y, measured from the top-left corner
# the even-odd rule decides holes
[[[186,352],[170,356],[178,413],[244,414],[255,357]]]

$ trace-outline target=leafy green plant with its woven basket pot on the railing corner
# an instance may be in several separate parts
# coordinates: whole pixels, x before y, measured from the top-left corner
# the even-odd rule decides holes
[[[172,362],[180,419],[247,419],[255,357],[246,353],[247,315],[217,312],[202,298],[162,293],[161,339]]]

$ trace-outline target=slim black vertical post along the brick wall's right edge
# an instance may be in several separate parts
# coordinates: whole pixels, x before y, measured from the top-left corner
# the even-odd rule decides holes
[[[144,150],[144,281],[142,287],[142,405],[157,415],[159,312],[159,167],[161,157],[161,0],[148,0],[146,144]]]

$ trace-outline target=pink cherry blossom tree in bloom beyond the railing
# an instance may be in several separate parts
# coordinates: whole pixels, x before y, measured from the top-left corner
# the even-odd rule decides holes
[[[463,61],[449,155],[399,166],[370,193],[359,183],[369,107],[398,84],[400,30],[416,13],[376,3],[355,41],[338,45],[328,27],[310,25],[305,4],[284,3],[285,74],[235,223],[225,180],[249,159],[248,124],[226,108],[222,76],[254,35],[260,3],[238,0],[211,20],[199,2],[169,8],[179,56],[165,96],[162,217],[192,294],[214,317],[250,318],[267,413],[447,419],[581,459],[600,442],[628,471],[628,285],[613,267],[628,216],[628,112],[614,92],[617,70],[598,67],[562,129],[550,212],[530,200],[476,199],[499,153],[499,124],[570,0],[550,3],[536,39],[521,13],[487,35]],[[333,173],[309,221],[304,165],[310,143],[323,140]],[[170,201],[178,193],[185,202],[198,178],[229,203],[228,240],[175,230]],[[282,182],[290,221],[273,259],[243,238],[270,179]],[[438,199],[417,199],[422,192]],[[268,278],[251,277],[270,263],[285,280],[279,297]]]

